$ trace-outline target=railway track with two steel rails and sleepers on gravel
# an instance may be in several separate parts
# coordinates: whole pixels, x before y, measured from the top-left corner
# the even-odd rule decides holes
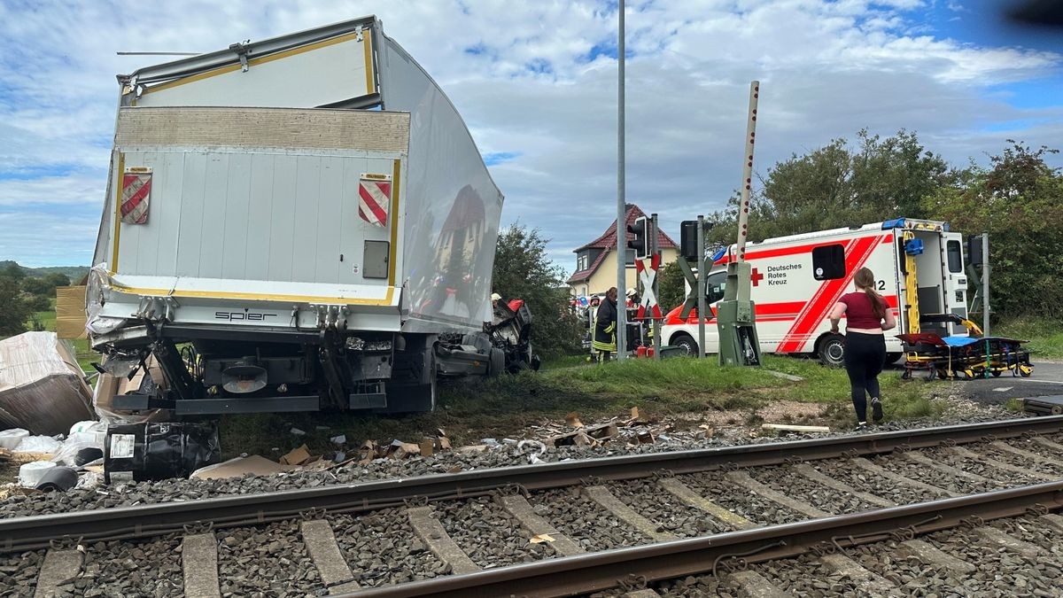
[[[647,585],[696,595],[702,584],[827,596],[856,583],[900,595],[908,574],[875,570],[861,546],[892,543],[877,549],[897,552],[889,563],[914,559],[954,579],[957,562],[976,565],[937,534],[962,530],[1025,559],[1044,541],[1014,530],[1063,533],[1061,506],[1063,416],[1043,417],[3,519],[0,586],[14,596],[642,596],[655,592]],[[1041,565],[1059,571],[1063,549],[1043,548]],[[794,581],[809,579],[827,587]]]

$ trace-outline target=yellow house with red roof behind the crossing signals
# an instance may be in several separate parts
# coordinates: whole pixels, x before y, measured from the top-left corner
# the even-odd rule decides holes
[[[641,216],[647,216],[638,205],[627,204],[627,212],[624,215],[624,234],[627,240],[635,238],[635,235],[627,232],[627,226],[634,225]],[[663,231],[657,231],[657,246],[661,250],[661,265],[675,262],[679,255],[679,247],[672,240],[672,237]],[[576,297],[590,297],[592,295],[605,295],[610,286],[617,286],[617,220],[613,220],[609,228],[597,238],[574,249],[576,254],[576,271],[569,277],[569,288]],[[624,288],[619,289],[620,296],[624,296],[627,288],[636,285],[638,279],[635,271],[635,250],[628,249],[625,256],[627,262],[627,283]]]

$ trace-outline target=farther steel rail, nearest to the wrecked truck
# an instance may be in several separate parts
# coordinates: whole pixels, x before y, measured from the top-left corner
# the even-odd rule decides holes
[[[927,448],[946,439],[957,444],[1046,434],[1063,430],[1063,415],[831,436],[788,443],[729,446],[477,469],[376,482],[337,484],[248,496],[97,509],[0,519],[0,553],[49,546],[63,537],[86,541],[149,537],[180,532],[185,526],[258,525],[298,517],[313,510],[353,512],[401,505],[406,500],[453,500],[518,485],[525,491],[571,486],[589,478],[627,480],[667,470],[673,474],[730,467],[778,465],[794,460],[867,455],[901,448]]]

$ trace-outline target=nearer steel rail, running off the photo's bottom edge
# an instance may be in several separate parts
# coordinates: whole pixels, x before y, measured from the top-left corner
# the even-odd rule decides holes
[[[621,586],[631,576],[657,581],[714,574],[718,568],[742,569],[749,563],[806,552],[832,553],[891,537],[908,539],[948,528],[976,527],[986,520],[1030,513],[1039,504],[1048,510],[1063,508],[1063,481],[586,555],[546,559],[341,596],[471,598],[511,596],[514,588],[519,588],[519,595],[525,597],[574,596]]]

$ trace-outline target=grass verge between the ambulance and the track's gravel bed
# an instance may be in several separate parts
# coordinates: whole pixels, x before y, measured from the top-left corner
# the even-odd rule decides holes
[[[221,418],[221,446],[227,455],[249,452],[276,458],[303,443],[325,450],[328,438],[338,434],[353,445],[366,438],[414,442],[436,434],[439,428],[455,445],[474,444],[486,436],[521,437],[543,422],[563,425],[570,412],[592,423],[626,416],[632,406],[647,416],[693,415],[694,419],[699,413],[736,412],[738,421],[744,419],[752,426],[758,422],[758,410],[782,400],[824,403],[832,426],[845,429],[853,423],[845,371],[811,360],[766,355],[763,368],[721,368],[713,358],[627,360],[602,366],[576,363],[584,365],[443,384],[439,406],[426,414],[225,416]],[[794,382],[766,370],[803,380]],[[888,418],[941,415],[943,408],[926,397],[943,383],[906,383],[896,371],[884,372],[879,380]],[[293,434],[291,428],[304,434]]]

